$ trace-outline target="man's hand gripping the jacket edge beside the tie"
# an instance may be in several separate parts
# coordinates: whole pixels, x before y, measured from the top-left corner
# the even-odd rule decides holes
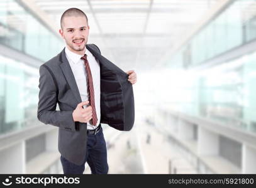
[[[89,101],[81,102],[77,105],[72,113],[74,122],[87,123],[92,118],[92,107],[82,108],[84,105],[88,105]]]

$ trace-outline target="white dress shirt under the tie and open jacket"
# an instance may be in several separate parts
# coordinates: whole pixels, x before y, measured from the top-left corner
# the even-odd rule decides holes
[[[85,48],[85,53],[87,55],[87,60],[89,62],[89,66],[92,73],[92,81],[93,81],[93,88],[94,88],[94,101],[96,107],[96,114],[97,114],[97,123],[96,125],[92,125],[92,121],[90,120],[87,123],[87,129],[95,129],[99,126],[99,122],[101,120],[101,75],[100,75],[100,68],[99,63],[96,61],[92,53]],[[87,93],[87,74],[86,69],[84,67],[84,60],[81,60],[82,55],[77,55],[76,53],[72,52],[65,47],[65,55],[67,60],[69,61],[69,65],[75,76],[75,82],[77,83],[77,87],[82,99],[82,102],[86,102],[88,100],[88,93]],[[86,105],[84,105],[86,108]]]

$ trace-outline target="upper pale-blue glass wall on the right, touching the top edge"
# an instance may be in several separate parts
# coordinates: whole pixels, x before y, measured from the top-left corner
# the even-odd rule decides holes
[[[189,68],[256,39],[256,0],[236,0],[165,60],[171,67]]]

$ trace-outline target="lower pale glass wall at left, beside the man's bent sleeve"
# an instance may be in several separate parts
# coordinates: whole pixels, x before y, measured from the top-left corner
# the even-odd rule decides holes
[[[0,56],[0,134],[38,125],[37,68]]]

